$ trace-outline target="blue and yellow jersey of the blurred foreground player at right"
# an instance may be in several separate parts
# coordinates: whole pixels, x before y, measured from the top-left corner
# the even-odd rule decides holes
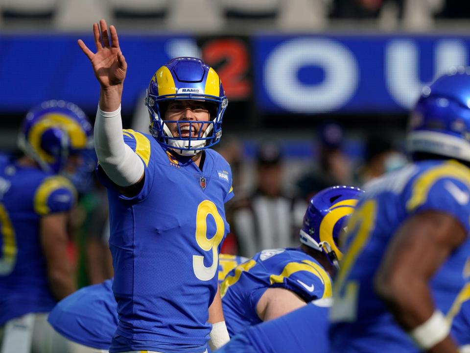
[[[409,217],[426,210],[452,215],[470,230],[470,170],[456,161],[423,161],[365,187],[350,222],[345,255],[330,310],[332,352],[419,352],[374,291],[374,277],[388,244]],[[447,313],[464,285],[470,242],[452,252],[429,287]]]

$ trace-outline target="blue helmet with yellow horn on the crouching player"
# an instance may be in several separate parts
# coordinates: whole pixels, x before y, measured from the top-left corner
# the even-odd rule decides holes
[[[355,186],[326,188],[308,202],[300,242],[320,252],[325,252],[330,262],[339,268],[342,252],[338,240],[346,230],[346,219],[354,211],[363,190]]]

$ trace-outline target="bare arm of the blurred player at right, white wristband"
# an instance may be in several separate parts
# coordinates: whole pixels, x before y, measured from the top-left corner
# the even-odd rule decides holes
[[[423,324],[429,323],[436,307],[428,283],[465,238],[459,221],[436,211],[416,214],[396,232],[377,271],[375,290],[406,331],[429,327]],[[427,352],[457,352],[447,327],[438,325],[437,330],[431,336],[438,337],[440,331],[444,337]]]

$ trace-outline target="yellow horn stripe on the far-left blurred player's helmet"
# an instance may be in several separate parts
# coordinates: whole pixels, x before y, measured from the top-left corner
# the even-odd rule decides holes
[[[41,137],[44,131],[56,126],[67,131],[72,148],[82,149],[87,145],[87,135],[77,121],[62,114],[46,114],[43,119],[31,128],[28,141],[39,157],[47,163],[54,162],[54,157],[41,148]]]

